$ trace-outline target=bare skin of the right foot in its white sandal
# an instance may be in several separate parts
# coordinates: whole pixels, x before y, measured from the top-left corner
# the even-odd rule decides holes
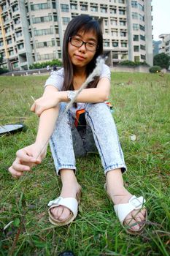
[[[112,202],[115,205],[119,203],[128,203],[130,198],[133,196],[131,195],[131,193],[128,192],[127,189],[125,189],[125,187],[122,187],[121,189],[119,189],[119,191],[115,192],[115,188],[112,189],[112,187],[108,185],[107,185],[107,193],[109,197],[111,197]],[[144,222],[145,215],[146,215],[145,208],[141,210],[131,211],[131,213],[125,217],[123,224],[130,226],[131,230],[137,231],[142,226],[142,223],[140,224],[136,222]]]

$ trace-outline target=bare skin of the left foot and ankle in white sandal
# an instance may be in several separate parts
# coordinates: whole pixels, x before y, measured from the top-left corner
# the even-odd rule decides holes
[[[63,187],[61,189],[61,197],[66,198],[66,197],[77,197],[77,193],[80,192],[80,184],[75,182],[74,184],[63,184]],[[66,208],[64,206],[57,206],[53,207],[50,209],[51,214],[53,217],[60,221],[64,222],[66,219],[69,219],[71,211],[69,208]]]

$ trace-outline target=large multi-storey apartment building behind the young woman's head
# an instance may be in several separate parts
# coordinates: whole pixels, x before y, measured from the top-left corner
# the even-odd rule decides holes
[[[111,67],[124,60],[152,65],[152,0],[0,0],[0,57],[10,70],[61,59],[63,34],[76,15],[101,23]]]

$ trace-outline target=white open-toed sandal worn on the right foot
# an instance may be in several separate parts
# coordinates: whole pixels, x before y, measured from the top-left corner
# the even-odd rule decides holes
[[[128,201],[128,203],[120,203],[114,206],[115,209],[115,213],[118,217],[118,219],[120,220],[121,225],[123,225],[123,227],[125,227],[125,230],[127,233],[130,233],[132,235],[137,235],[139,233],[142,233],[143,229],[144,229],[144,225],[145,223],[142,222],[141,227],[139,228],[139,230],[133,230],[131,229],[131,227],[133,227],[136,224],[141,224],[139,222],[136,222],[136,224],[133,225],[125,225],[123,222],[125,220],[125,217],[127,217],[128,214],[131,213],[131,211],[134,210],[141,210],[142,208],[144,208],[144,203],[146,202],[146,200],[144,199],[144,197],[136,197],[135,195],[133,195],[130,200]],[[145,214],[145,221],[147,220],[147,211]],[[129,220],[129,224],[130,224],[131,220]]]

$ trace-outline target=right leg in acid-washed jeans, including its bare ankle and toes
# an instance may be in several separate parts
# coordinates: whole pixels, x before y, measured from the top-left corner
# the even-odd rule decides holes
[[[120,147],[115,122],[107,105],[104,103],[87,105],[87,121],[90,125],[93,136],[101,156],[101,162],[107,176],[107,192],[114,204],[128,203],[132,197],[123,186],[122,173],[126,170],[123,152]],[[125,218],[125,223],[131,224],[144,220],[145,210],[140,212],[132,211]],[[131,227],[139,230],[139,225]]]

